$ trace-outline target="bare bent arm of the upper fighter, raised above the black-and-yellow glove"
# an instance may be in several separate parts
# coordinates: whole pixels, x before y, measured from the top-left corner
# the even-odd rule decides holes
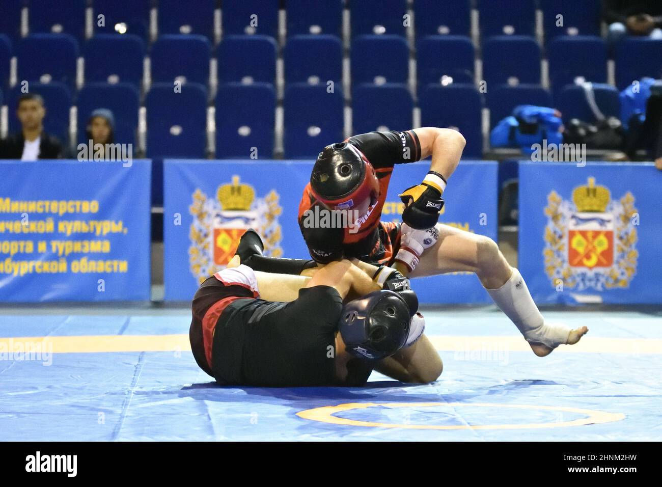
[[[422,127],[414,129],[414,132],[420,142],[420,158],[432,156],[430,170],[438,172],[448,181],[459,164],[466,143],[462,134],[437,127]]]

